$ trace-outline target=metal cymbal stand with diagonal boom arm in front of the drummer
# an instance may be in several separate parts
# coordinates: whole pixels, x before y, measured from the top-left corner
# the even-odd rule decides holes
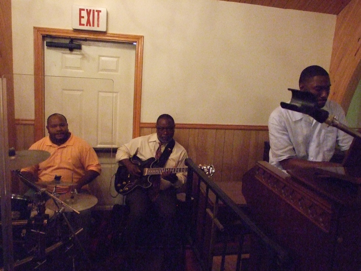
[[[49,193],[46,189],[39,188],[37,185],[35,185],[30,180],[28,180],[25,176],[23,176],[20,171],[16,170],[16,171],[14,171],[14,173],[16,173],[27,186],[29,186],[32,189],[35,189],[38,194],[40,194],[41,196],[46,194],[50,198],[53,199],[56,206],[58,207],[58,211],[56,211],[56,213],[54,214],[54,219],[58,219],[57,216],[60,215],[60,214],[62,215],[62,217],[64,218],[64,221],[65,221],[65,223],[66,223],[66,225],[67,225],[67,227],[69,229],[69,231],[71,232],[71,236],[70,236],[71,240],[75,240],[74,244],[77,245],[78,248],[80,248],[80,250],[82,251],[87,263],[89,264],[89,266],[91,266],[91,261],[90,261],[88,255],[87,255],[86,251],[84,250],[81,242],[79,241],[78,236],[77,236],[78,233],[83,231],[83,228],[79,229],[77,232],[74,231],[74,229],[71,226],[68,218],[65,215],[65,208],[63,206],[71,209],[73,212],[76,212],[77,214],[80,214],[79,211],[77,211],[73,207],[67,205],[65,202],[58,199],[55,195],[53,195],[52,193]],[[45,214],[45,204],[44,204],[44,206],[38,207],[38,214],[34,218],[35,224],[36,225],[44,225],[44,221],[48,217],[49,217],[49,215]],[[45,232],[41,231],[41,228],[42,227],[39,227],[37,230],[31,230],[32,232],[34,232],[36,234],[37,242],[38,242],[38,251],[36,252],[36,255],[34,257],[37,260],[38,266],[36,266],[34,269],[40,267],[42,264],[44,264],[46,262],[46,253],[47,253],[48,249],[45,249],[45,241],[46,241],[45,240]],[[75,266],[74,266],[74,257],[73,257],[73,268],[75,268]]]

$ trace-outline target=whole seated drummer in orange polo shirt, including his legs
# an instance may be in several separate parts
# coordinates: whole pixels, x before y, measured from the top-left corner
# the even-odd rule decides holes
[[[50,115],[46,128],[49,136],[35,142],[29,149],[48,151],[50,157],[37,165],[21,169],[21,175],[39,187],[45,186],[50,193],[63,193],[64,198],[75,199],[74,204],[76,205],[78,203],[76,202],[77,199],[81,199],[79,195],[86,195],[86,193],[88,193],[88,184],[101,173],[101,165],[98,157],[94,149],[86,141],[69,132],[68,122],[65,116],[59,113]],[[56,189],[53,191],[55,186],[54,180],[59,178],[59,176],[61,176],[60,185],[56,184]],[[61,184],[64,185],[62,186]],[[74,197],[74,195],[67,193],[74,192],[75,189],[80,193],[79,195],[75,195]],[[26,194],[30,198],[34,198],[35,201],[36,198],[39,198],[39,195],[37,196],[37,193],[32,189],[29,189],[25,195]],[[63,200],[65,201],[64,198]],[[87,197],[82,198],[87,199]],[[52,200],[53,199],[49,199],[48,202],[51,203]],[[81,203],[84,205],[84,202]],[[67,204],[69,203],[67,202]],[[69,205],[71,206],[71,204]],[[40,201],[39,206],[42,207],[42,201]],[[93,206],[93,204],[91,206]],[[79,215],[71,212],[71,210],[66,214],[73,229],[84,229],[81,240],[84,247],[87,248],[90,234],[91,209],[81,208],[79,211]],[[48,238],[51,237],[52,236],[48,236]]]

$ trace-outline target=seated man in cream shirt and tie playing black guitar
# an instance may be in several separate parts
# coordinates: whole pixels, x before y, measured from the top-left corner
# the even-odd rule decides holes
[[[123,164],[127,172],[134,178],[142,176],[142,165],[132,162],[137,156],[140,160],[147,159],[156,161],[152,167],[158,167],[158,160],[154,159],[160,154],[158,147],[161,146],[162,155],[159,163],[165,163],[161,168],[185,168],[187,156],[186,150],[173,139],[175,123],[173,117],[168,114],[160,115],[156,122],[157,133],[132,139],[129,143],[122,145],[117,150],[116,159]],[[173,149],[169,146],[174,142]],[[168,149],[168,150],[167,150]],[[165,151],[166,150],[166,151]],[[170,154],[169,154],[170,152]],[[169,157],[168,157],[169,155]],[[186,181],[187,173],[172,173],[170,170],[163,171],[160,175],[153,175],[149,178],[152,185],[149,188],[137,186],[126,194],[126,205],[129,206],[129,216],[124,232],[124,250],[127,251],[127,258],[139,257],[132,255],[139,245],[144,241],[151,241],[152,237],[160,246],[174,245],[176,235],[175,211],[177,205],[176,188],[181,187]],[[158,186],[156,185],[158,183]],[[155,223],[152,223],[155,222]],[[149,232],[149,225],[153,225],[152,236],[146,236]],[[156,225],[156,227],[154,227]],[[154,243],[152,243],[154,244]],[[174,264],[174,251],[164,249],[164,261],[159,270],[177,270]],[[168,253],[167,253],[168,252]],[[139,259],[138,259],[139,261]],[[129,266],[131,268],[131,266]]]

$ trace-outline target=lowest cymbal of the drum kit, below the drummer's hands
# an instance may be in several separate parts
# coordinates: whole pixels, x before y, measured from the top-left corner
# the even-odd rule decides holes
[[[94,205],[96,205],[96,203],[98,202],[98,199],[95,196],[84,193],[74,194],[74,198],[71,198],[70,194],[66,193],[60,195],[59,199],[77,211],[89,209]],[[61,203],[60,202],[57,203],[61,208],[62,207]],[[45,207],[53,211],[58,211],[58,207],[55,205],[55,202],[52,198],[45,203]],[[64,208],[65,208],[65,212],[73,211],[70,208],[66,208],[66,207]]]

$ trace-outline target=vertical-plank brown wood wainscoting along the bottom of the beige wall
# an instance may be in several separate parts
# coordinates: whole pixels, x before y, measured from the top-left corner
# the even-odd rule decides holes
[[[155,123],[141,123],[140,135],[155,133]],[[34,120],[16,120],[16,150],[34,143]],[[217,181],[240,181],[243,174],[263,159],[267,126],[177,124],[174,139],[197,164],[213,164]]]

